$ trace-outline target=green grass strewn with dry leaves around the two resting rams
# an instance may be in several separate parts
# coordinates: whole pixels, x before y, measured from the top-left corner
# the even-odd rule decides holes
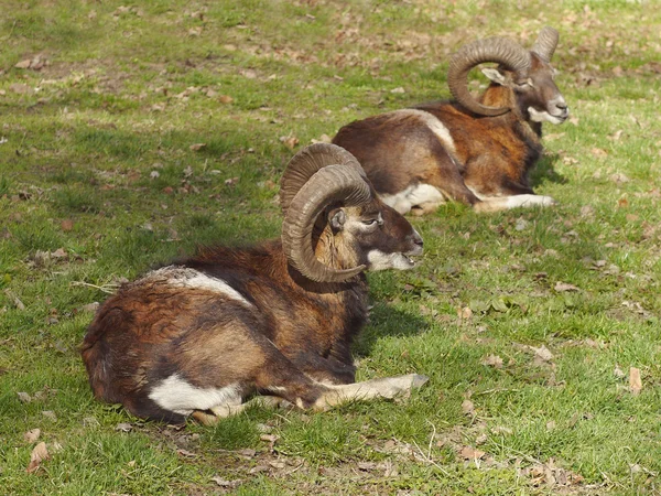
[[[4,492],[659,494],[655,3],[4,1]],[[278,236],[297,149],[446,97],[463,43],[531,43],[546,24],[573,119],[545,128],[534,182],[560,205],[447,205],[412,218],[418,270],[370,276],[359,377],[415,371],[423,389],[183,430],[94,400],[77,352],[89,303],[197,244]],[[36,428],[51,459],[29,474]]]

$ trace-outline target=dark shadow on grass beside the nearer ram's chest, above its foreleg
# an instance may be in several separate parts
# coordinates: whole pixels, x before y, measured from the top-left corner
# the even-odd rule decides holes
[[[387,336],[405,337],[425,333],[430,323],[420,315],[397,310],[388,303],[377,303],[370,313],[370,323],[354,344],[356,357],[368,356],[378,339]]]

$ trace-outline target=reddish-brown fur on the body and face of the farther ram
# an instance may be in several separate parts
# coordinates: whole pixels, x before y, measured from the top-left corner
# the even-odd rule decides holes
[[[528,175],[542,154],[541,125],[530,120],[528,108],[545,110],[546,101],[560,95],[552,67],[532,52],[531,60],[532,89],[519,89],[513,75],[500,68],[507,85],[492,83],[480,98],[488,106],[511,108],[508,114],[480,117],[455,101],[415,107],[447,128],[454,150],[416,116],[397,112],[351,122],[333,143],[358,159],[379,194],[429,184],[445,198],[478,211],[501,209],[502,202],[479,205],[479,197],[534,194]]]

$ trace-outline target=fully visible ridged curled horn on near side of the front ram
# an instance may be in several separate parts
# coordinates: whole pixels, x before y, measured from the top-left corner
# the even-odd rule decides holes
[[[282,223],[282,248],[290,263],[317,282],[342,282],[362,272],[366,266],[342,270],[322,263],[314,255],[312,231],[318,215],[332,203],[358,206],[371,197],[369,185],[350,165],[327,165],[314,173],[293,197]]]

